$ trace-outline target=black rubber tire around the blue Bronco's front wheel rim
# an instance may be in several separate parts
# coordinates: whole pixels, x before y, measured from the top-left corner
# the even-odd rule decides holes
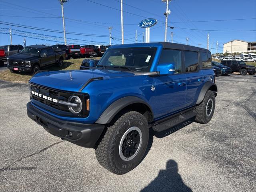
[[[141,147],[136,156],[128,161],[121,159],[119,144],[124,133],[131,127],[136,126],[142,132]],[[98,162],[104,168],[114,174],[125,174],[134,169],[142,160],[148,145],[149,128],[146,118],[136,111],[126,112],[116,117],[108,126],[100,138],[95,154]]]

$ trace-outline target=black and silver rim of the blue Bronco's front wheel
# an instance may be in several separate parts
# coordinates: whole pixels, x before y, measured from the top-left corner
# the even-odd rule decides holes
[[[142,144],[142,132],[138,127],[129,128],[121,138],[119,155],[124,161],[132,160],[140,150]]]

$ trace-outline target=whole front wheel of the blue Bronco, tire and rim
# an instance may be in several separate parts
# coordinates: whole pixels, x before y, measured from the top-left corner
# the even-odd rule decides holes
[[[96,147],[96,158],[110,172],[125,174],[142,160],[148,135],[146,118],[136,111],[127,112],[106,129]]]

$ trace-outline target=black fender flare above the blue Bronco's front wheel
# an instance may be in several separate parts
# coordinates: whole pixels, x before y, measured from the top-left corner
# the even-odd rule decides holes
[[[111,120],[114,118],[114,116],[118,114],[118,112],[120,112],[126,106],[130,104],[135,104],[135,103],[142,103],[148,106],[148,108],[150,109],[150,112],[152,113],[152,116],[154,117],[152,108],[148,105],[148,103],[146,103],[141,98],[138,98],[135,96],[127,96],[127,97],[116,100],[110,106],[108,106],[108,108],[104,110],[104,112],[101,114],[100,118],[96,121],[96,123],[97,124],[110,123]]]

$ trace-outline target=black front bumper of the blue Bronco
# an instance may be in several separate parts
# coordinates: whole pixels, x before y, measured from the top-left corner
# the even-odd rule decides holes
[[[53,135],[86,148],[93,148],[104,130],[101,124],[82,124],[60,120],[27,104],[28,117],[48,129]],[[69,136],[68,132],[72,133]]]

